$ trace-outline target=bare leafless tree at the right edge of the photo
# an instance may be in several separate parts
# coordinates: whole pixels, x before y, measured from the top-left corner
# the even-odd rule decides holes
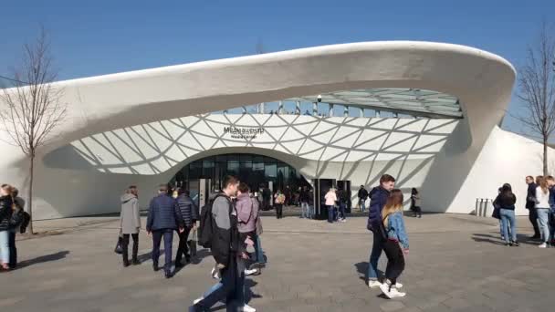
[[[543,22],[526,64],[518,70],[518,99],[524,113],[516,119],[543,143],[543,174],[548,175],[548,140],[555,130],[555,36]]]

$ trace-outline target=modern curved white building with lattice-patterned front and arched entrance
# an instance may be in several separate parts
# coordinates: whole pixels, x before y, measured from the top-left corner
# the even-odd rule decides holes
[[[35,215],[118,212],[131,184],[144,207],[160,183],[210,178],[214,188],[225,173],[274,189],[335,184],[356,204],[360,185],[386,172],[432,212],[471,213],[509,182],[522,214],[541,145],[498,127],[514,81],[502,57],[410,41],[62,81],[68,120],[38,157]],[[0,148],[0,180],[25,193],[26,158]]]

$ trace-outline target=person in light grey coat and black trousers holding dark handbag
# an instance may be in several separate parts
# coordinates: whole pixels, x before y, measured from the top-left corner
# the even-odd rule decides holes
[[[121,213],[120,213],[120,233],[121,249],[123,252],[123,266],[127,267],[129,263],[129,239],[133,239],[133,247],[131,251],[131,264],[139,265],[139,232],[141,231],[141,211],[139,209],[139,190],[135,185],[131,185],[125,193],[121,195]]]

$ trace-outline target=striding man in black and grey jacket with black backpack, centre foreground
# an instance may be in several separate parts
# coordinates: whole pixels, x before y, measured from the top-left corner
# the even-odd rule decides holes
[[[209,311],[218,301],[225,301],[227,311],[243,306],[243,285],[246,258],[238,231],[237,213],[231,197],[236,196],[239,182],[236,177],[226,176],[224,189],[212,203],[201,211],[199,244],[210,247],[220,270],[221,281],[204,296],[194,300],[189,311]],[[242,310],[249,310],[245,307]]]

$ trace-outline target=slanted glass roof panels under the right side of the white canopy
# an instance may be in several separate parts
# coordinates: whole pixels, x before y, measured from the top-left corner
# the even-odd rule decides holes
[[[423,117],[463,118],[463,112],[456,97],[422,88],[364,88],[287,100],[314,102],[318,96],[321,96],[322,103],[407,113]]]

